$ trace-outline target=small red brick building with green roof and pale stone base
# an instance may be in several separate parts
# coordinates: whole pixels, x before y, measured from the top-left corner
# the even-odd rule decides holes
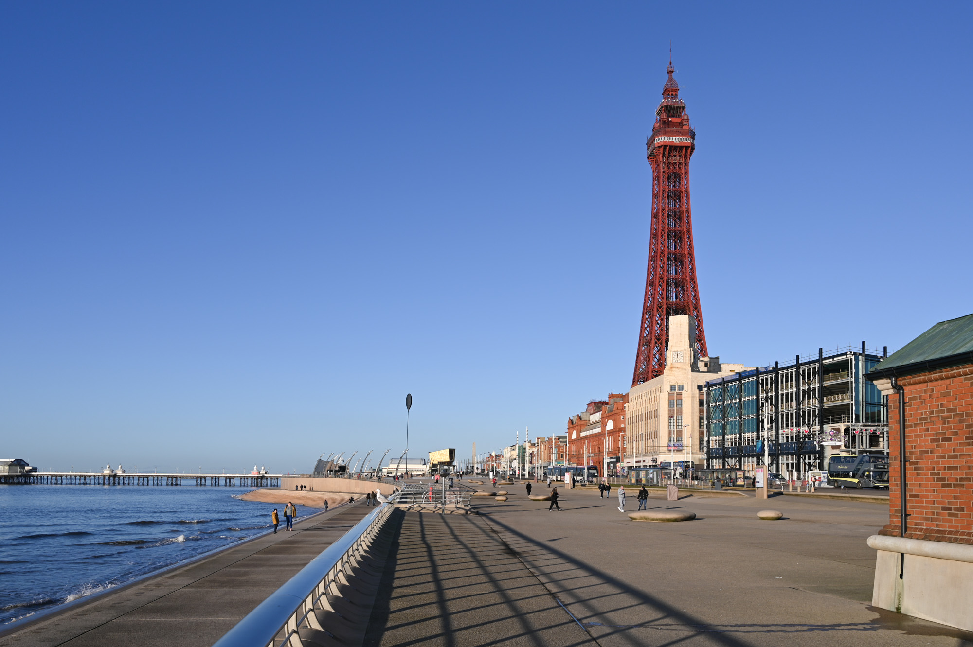
[[[868,378],[888,396],[890,446],[872,605],[973,630],[973,315],[937,323]]]

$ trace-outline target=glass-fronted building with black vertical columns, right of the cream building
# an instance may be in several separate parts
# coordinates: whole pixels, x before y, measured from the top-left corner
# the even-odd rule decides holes
[[[741,371],[703,386],[706,467],[753,473],[768,443],[772,471],[804,478],[836,452],[887,453],[886,398],[867,373],[880,354],[851,347]],[[759,460],[759,462],[758,462]]]

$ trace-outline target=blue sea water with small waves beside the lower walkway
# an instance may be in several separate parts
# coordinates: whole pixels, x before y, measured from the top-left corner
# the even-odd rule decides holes
[[[271,531],[253,488],[0,486],[0,624]],[[318,510],[298,507],[298,515]]]

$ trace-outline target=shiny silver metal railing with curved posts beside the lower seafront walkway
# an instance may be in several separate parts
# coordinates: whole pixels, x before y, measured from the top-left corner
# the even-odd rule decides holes
[[[330,608],[326,596],[335,595],[337,586],[345,583],[352,567],[361,562],[395,509],[393,503],[399,494],[390,496],[387,503],[382,503],[308,562],[213,643],[213,647],[301,647],[298,630],[327,631],[321,627],[315,611]]]

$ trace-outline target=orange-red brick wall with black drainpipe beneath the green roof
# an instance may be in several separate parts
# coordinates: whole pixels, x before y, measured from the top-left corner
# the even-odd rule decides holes
[[[907,532],[973,544],[973,364],[899,380],[906,395]],[[889,520],[899,536],[898,394],[888,397]]]

